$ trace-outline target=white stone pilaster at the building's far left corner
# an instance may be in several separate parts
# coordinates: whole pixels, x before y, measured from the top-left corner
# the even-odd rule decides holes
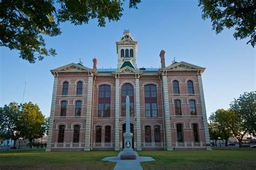
[[[56,103],[56,94],[57,94],[57,83],[58,77],[55,75],[54,82],[53,82],[53,90],[52,90],[52,99],[51,99],[51,114],[50,114],[50,121],[49,121],[49,132],[48,132],[48,139],[47,139],[47,147],[46,152],[51,151],[51,143],[52,143],[52,130],[53,130],[53,119],[55,114],[55,103]]]

